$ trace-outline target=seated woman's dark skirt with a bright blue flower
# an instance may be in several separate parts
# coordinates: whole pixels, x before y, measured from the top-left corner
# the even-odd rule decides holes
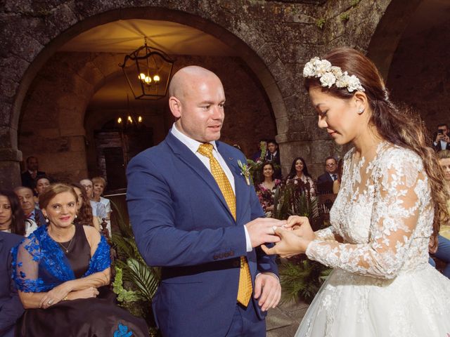
[[[143,319],[115,305],[109,289],[98,290],[96,298],[63,300],[48,309],[25,310],[15,326],[15,337],[148,337]]]

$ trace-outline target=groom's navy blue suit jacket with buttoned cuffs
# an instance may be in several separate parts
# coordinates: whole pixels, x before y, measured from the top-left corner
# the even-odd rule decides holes
[[[245,157],[224,143],[217,142],[217,150],[234,176],[236,221],[210,171],[172,133],[127,168],[136,244],[148,265],[162,266],[153,309],[165,337],[226,335],[236,310],[240,256],[247,256],[253,282],[259,272],[278,273],[273,256],[246,251],[243,226],[264,212],[240,174],[237,161]],[[264,319],[257,301],[255,308]]]

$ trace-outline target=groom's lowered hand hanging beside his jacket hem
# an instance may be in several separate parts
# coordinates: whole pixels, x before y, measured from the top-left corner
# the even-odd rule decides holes
[[[271,272],[262,272],[255,279],[255,298],[262,311],[275,308],[280,302],[280,280]]]

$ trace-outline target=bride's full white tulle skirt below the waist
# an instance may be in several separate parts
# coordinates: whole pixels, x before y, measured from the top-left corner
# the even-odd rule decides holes
[[[334,270],[296,337],[446,337],[450,280],[428,263],[394,279]]]

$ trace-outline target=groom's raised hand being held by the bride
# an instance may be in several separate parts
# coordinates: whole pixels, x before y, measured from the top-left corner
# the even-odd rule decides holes
[[[256,218],[250,223],[246,223],[245,227],[247,227],[252,247],[255,248],[261,244],[280,241],[280,238],[275,235],[274,227],[281,227],[285,223],[286,220],[273,218]]]

